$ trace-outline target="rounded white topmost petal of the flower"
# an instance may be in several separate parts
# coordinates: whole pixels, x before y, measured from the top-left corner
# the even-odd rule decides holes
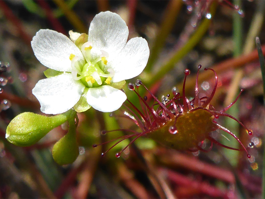
[[[122,18],[113,12],[97,14],[89,27],[88,41],[92,47],[117,54],[126,44],[129,30]]]

